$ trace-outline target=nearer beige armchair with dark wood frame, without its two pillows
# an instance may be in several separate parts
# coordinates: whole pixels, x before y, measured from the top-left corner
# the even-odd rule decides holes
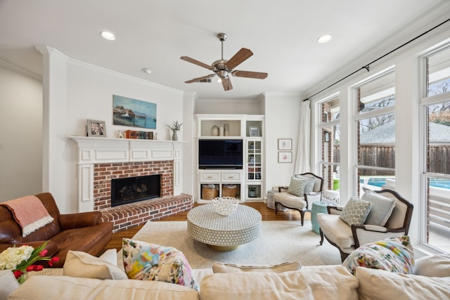
[[[342,207],[327,207],[328,214],[317,214],[321,235],[320,244],[323,244],[323,237],[325,237],[330,244],[338,247],[342,261],[360,245],[384,240],[387,237],[399,237],[408,234],[409,223],[411,223],[413,214],[413,204],[393,190],[371,192],[394,200],[395,205],[392,213],[384,226],[365,223],[349,226],[340,219]],[[364,196],[361,199],[364,200]],[[375,209],[375,206],[372,205],[371,209]]]

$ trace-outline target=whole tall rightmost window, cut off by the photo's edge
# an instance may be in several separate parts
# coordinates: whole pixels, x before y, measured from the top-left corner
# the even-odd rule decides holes
[[[424,58],[423,244],[450,251],[450,47]]]

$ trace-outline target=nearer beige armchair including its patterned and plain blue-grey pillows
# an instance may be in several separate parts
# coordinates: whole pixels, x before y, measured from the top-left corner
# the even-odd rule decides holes
[[[360,245],[408,235],[413,214],[413,204],[393,190],[366,190],[361,199],[352,197],[345,207],[327,209],[328,214],[317,214],[320,244],[325,237],[338,247],[342,261]]]

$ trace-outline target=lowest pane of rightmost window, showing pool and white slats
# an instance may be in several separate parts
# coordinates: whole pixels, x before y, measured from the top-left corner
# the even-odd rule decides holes
[[[450,179],[427,178],[427,243],[450,252]]]

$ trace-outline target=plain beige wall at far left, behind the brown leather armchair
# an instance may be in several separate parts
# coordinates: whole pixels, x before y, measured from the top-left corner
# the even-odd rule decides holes
[[[42,191],[42,85],[0,62],[0,202]]]

